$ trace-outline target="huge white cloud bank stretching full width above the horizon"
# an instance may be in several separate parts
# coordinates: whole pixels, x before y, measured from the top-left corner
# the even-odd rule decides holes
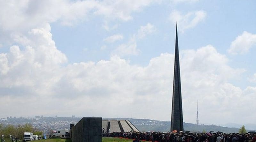
[[[77,116],[116,117],[116,112],[119,112],[120,117],[129,117],[132,113],[138,118],[169,120],[170,113],[166,112],[171,108],[166,106],[171,106],[172,99],[173,54],[161,54],[146,66],[132,65],[119,56],[96,63],[62,66],[67,59],[55,47],[49,26],[29,33],[26,38],[21,38],[26,42],[17,40],[24,48],[12,46],[9,53],[0,54],[0,92],[1,99],[5,100],[2,107],[9,108],[2,110],[1,117],[13,116],[12,113],[34,116],[35,112],[19,109],[32,105],[40,113],[45,109],[52,110],[43,115],[67,116],[71,115],[67,112],[72,109],[72,114]],[[204,114],[200,117],[201,122],[242,121],[236,116],[238,112],[249,111],[245,103],[256,99],[253,95],[255,89],[247,87],[242,90],[229,83],[229,79],[239,77],[244,70],[234,69],[228,66],[228,62],[228,58],[211,45],[180,51],[185,122],[194,122],[191,116],[196,111],[196,100],[200,102],[200,114]],[[32,99],[28,99],[31,96]],[[53,105],[60,104],[65,111],[52,109]],[[111,109],[100,109],[106,106]],[[152,113],[145,113],[149,108]],[[255,117],[252,114],[246,121],[251,122]]]

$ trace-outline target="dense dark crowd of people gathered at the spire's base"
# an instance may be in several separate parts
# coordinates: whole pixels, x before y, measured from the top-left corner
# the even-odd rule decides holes
[[[256,142],[256,133],[192,133],[192,132],[111,132],[102,133],[103,137],[134,139],[134,142]]]

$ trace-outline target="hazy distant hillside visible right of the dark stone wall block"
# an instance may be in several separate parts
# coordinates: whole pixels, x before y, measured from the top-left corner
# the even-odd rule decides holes
[[[105,119],[126,119],[129,120],[139,131],[170,131],[170,121],[158,121],[150,119],[132,119],[132,118],[105,118]],[[241,127],[242,125],[239,125]],[[245,127],[246,128],[246,127]],[[217,125],[196,125],[192,123],[184,123],[184,130],[191,132],[205,131],[222,131],[224,133],[237,133],[239,128],[229,128]],[[246,129],[247,130],[247,129]],[[247,130],[251,131],[251,130]]]

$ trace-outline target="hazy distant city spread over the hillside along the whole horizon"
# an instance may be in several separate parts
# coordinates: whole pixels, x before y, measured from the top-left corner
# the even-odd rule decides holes
[[[6,125],[24,125],[26,123],[31,124],[36,130],[46,132],[49,129],[69,129],[70,123],[76,124],[82,117],[58,117],[58,116],[35,116],[32,117],[12,117],[8,116],[6,118],[0,118],[0,124]],[[170,121],[158,121],[150,119],[133,119],[133,118],[103,118],[103,119],[119,119],[119,120],[129,120],[139,131],[170,131]],[[226,125],[228,126],[228,125]],[[192,123],[184,123],[184,129],[193,132],[204,131],[223,131],[227,133],[238,132],[240,125],[237,124],[236,128],[229,125],[228,127],[217,126],[217,125],[196,125]],[[250,124],[245,125],[248,131],[255,130],[256,125]]]

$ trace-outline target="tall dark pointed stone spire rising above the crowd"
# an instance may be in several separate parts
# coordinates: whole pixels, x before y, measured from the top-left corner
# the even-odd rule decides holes
[[[180,61],[179,61],[179,46],[178,46],[178,30],[176,23],[176,41],[175,41],[175,56],[174,56],[174,73],[173,73],[173,90],[172,90],[172,116],[171,116],[171,131],[183,131],[183,114],[181,100],[181,85],[180,85]]]

